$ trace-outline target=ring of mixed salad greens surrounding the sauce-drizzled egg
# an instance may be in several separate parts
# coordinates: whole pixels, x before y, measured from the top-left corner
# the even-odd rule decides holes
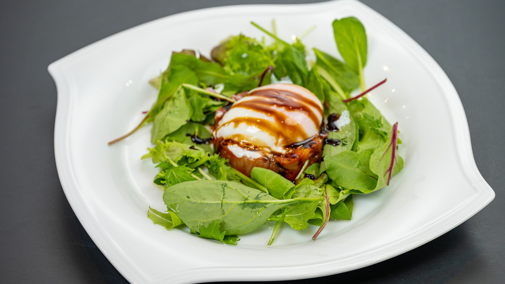
[[[299,38],[289,43],[257,23],[273,39],[266,44],[243,34],[230,36],[212,51],[212,60],[192,50],[172,53],[170,64],[149,82],[159,92],[156,102],[127,137],[149,122],[150,158],[160,172],[154,183],[164,188],[168,213],[150,208],[147,216],[167,229],[185,225],[199,238],[234,245],[237,234],[276,221],[269,245],[282,223],[295,230],[330,219],[350,220],[352,196],[389,185],[403,167],[397,148],[398,123],[391,125],[365,94],[367,35],[354,17],[333,22],[340,60],[314,48],[306,60]],[[235,102],[234,95],[272,82],[292,82],[314,92],[324,105],[322,131],[327,132],[322,160],[299,172],[295,182],[255,167],[250,177],[230,166],[210,145],[216,111]],[[351,92],[361,88],[359,96]],[[323,133],[322,132],[322,133]]]

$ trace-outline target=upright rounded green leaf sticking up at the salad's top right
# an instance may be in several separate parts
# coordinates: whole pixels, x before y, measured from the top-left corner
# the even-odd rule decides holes
[[[365,90],[363,67],[367,64],[367,34],[365,27],[355,17],[335,19],[333,34],[338,52],[347,64],[360,76],[361,88]]]

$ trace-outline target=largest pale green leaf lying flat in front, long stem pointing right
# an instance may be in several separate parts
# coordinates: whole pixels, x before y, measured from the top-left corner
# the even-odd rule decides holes
[[[225,234],[256,230],[278,209],[300,202],[318,203],[319,197],[278,200],[234,181],[195,180],[168,187],[163,194],[167,207],[190,228],[221,219]]]

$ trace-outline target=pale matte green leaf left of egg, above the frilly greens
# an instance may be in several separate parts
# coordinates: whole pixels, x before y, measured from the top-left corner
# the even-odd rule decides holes
[[[165,135],[179,129],[189,121],[192,115],[193,109],[186,98],[185,90],[179,87],[154,119],[151,129],[151,143],[154,144],[156,139],[162,139]]]

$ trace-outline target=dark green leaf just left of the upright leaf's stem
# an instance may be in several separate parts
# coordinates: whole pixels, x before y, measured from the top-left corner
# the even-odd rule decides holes
[[[314,49],[314,53],[316,54],[316,65],[326,70],[333,77],[346,93],[346,97],[360,85],[357,74],[346,63],[318,49]]]

